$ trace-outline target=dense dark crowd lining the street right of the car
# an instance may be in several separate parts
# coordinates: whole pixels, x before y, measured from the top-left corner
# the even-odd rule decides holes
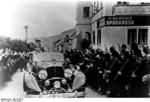
[[[150,49],[147,46],[139,49],[135,43],[130,51],[125,44],[118,48],[66,50],[65,66],[78,66],[86,76],[86,84],[102,95],[149,97]]]

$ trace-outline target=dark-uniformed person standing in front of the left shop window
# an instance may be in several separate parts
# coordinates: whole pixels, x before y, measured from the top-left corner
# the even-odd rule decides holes
[[[133,67],[131,67],[132,73],[130,79],[127,83],[127,92],[129,97],[142,97],[142,70],[143,70],[143,62],[142,62],[142,53],[138,48],[136,43],[131,45],[131,55]]]

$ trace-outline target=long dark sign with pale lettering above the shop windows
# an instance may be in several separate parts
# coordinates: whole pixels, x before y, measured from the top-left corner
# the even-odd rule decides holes
[[[105,16],[100,21],[103,26],[147,26],[150,25],[150,16]]]

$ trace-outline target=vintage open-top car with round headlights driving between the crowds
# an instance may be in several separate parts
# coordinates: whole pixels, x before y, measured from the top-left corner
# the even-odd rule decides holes
[[[64,68],[63,64],[64,57],[61,53],[33,55],[32,62],[27,64],[24,73],[25,97],[84,97],[84,77],[75,79],[73,71]]]

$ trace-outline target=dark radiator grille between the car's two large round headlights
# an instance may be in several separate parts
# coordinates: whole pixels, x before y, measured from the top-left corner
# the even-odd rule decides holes
[[[64,69],[63,67],[60,66],[51,66],[51,67],[47,67],[46,71],[48,73],[48,77],[49,78],[53,78],[53,77],[64,77]]]

